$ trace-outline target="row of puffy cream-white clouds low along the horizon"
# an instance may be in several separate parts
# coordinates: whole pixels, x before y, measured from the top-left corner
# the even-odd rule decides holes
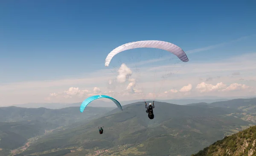
[[[130,84],[130,83],[129,83]],[[93,95],[109,95],[109,96],[116,96],[126,98],[127,100],[131,100],[131,97],[133,99],[143,99],[143,98],[150,98],[155,99],[157,98],[182,98],[182,97],[190,97],[192,95],[204,94],[204,95],[213,95],[212,93],[215,93],[214,95],[221,96],[223,94],[226,95],[234,95],[236,93],[241,94],[241,92],[251,93],[250,95],[255,95],[255,87],[250,87],[245,84],[224,84],[223,82],[219,82],[217,84],[207,84],[206,82],[201,82],[195,87],[192,87],[192,84],[185,85],[183,87],[180,87],[180,90],[176,89],[170,89],[163,92],[142,92],[138,91],[137,89],[134,89],[131,91],[131,88],[129,88],[130,85],[127,86],[128,91],[123,92],[115,92],[113,90],[105,90],[104,92],[101,91],[100,88],[94,87],[93,90],[80,90],[78,87],[70,87],[68,90],[65,90],[63,92],[53,92],[49,94],[49,97],[47,97],[47,100],[49,101],[66,101],[67,98],[77,100],[79,99],[84,100],[87,97],[93,96]],[[210,93],[210,94],[205,94]]]

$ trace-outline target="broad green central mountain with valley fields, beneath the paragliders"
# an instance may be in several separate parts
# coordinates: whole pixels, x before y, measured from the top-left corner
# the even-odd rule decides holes
[[[20,154],[50,155],[51,152],[70,149],[72,153],[67,156],[93,154],[101,150],[108,150],[107,155],[188,156],[253,124],[228,116],[237,111],[231,108],[162,102],[155,105],[154,120],[148,119],[143,102],[128,104],[123,111],[112,110],[87,124],[55,130]],[[105,127],[102,135],[99,135],[98,126]]]

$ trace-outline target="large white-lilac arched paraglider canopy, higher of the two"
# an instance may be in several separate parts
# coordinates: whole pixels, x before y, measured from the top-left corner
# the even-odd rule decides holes
[[[165,41],[160,41],[160,40],[142,40],[137,42],[126,43],[117,47],[116,49],[113,49],[105,59],[105,66],[108,66],[110,64],[111,59],[119,52],[122,52],[128,49],[135,49],[135,48],[163,49],[176,55],[183,62],[189,61],[189,58],[187,57],[186,53],[179,46],[176,46],[175,44],[165,42]]]

